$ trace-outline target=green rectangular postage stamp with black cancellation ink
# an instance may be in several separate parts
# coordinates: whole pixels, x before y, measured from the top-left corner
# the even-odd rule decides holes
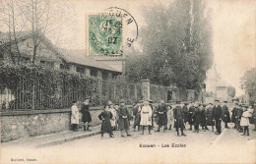
[[[123,52],[122,17],[88,15],[88,54],[90,56],[121,56]]]

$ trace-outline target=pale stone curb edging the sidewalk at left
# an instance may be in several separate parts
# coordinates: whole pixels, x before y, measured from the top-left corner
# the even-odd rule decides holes
[[[84,134],[84,135],[80,135],[80,136],[68,137],[68,138],[62,138],[62,139],[58,139],[58,140],[53,140],[53,141],[49,141],[49,142],[46,142],[46,143],[38,144],[38,145],[35,146],[35,148],[42,148],[42,147],[53,146],[53,145],[65,143],[65,142],[68,142],[68,141],[74,141],[74,140],[85,138],[85,137],[93,137],[93,136],[96,136],[98,134],[100,134],[100,132],[93,132],[93,133]]]

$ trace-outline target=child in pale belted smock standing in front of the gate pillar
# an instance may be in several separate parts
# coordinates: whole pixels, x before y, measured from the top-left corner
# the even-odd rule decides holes
[[[142,126],[142,135],[144,135],[145,127],[149,127],[149,135],[151,134],[151,126],[152,126],[152,108],[149,105],[149,101],[144,101],[144,106],[141,110],[141,123]]]

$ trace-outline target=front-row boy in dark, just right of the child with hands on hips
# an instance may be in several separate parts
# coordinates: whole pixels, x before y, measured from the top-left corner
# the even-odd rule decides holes
[[[131,137],[128,115],[129,112],[127,107],[125,106],[125,101],[121,99],[119,107],[119,129],[121,131],[121,137],[124,137],[124,131],[126,132],[127,137]]]

